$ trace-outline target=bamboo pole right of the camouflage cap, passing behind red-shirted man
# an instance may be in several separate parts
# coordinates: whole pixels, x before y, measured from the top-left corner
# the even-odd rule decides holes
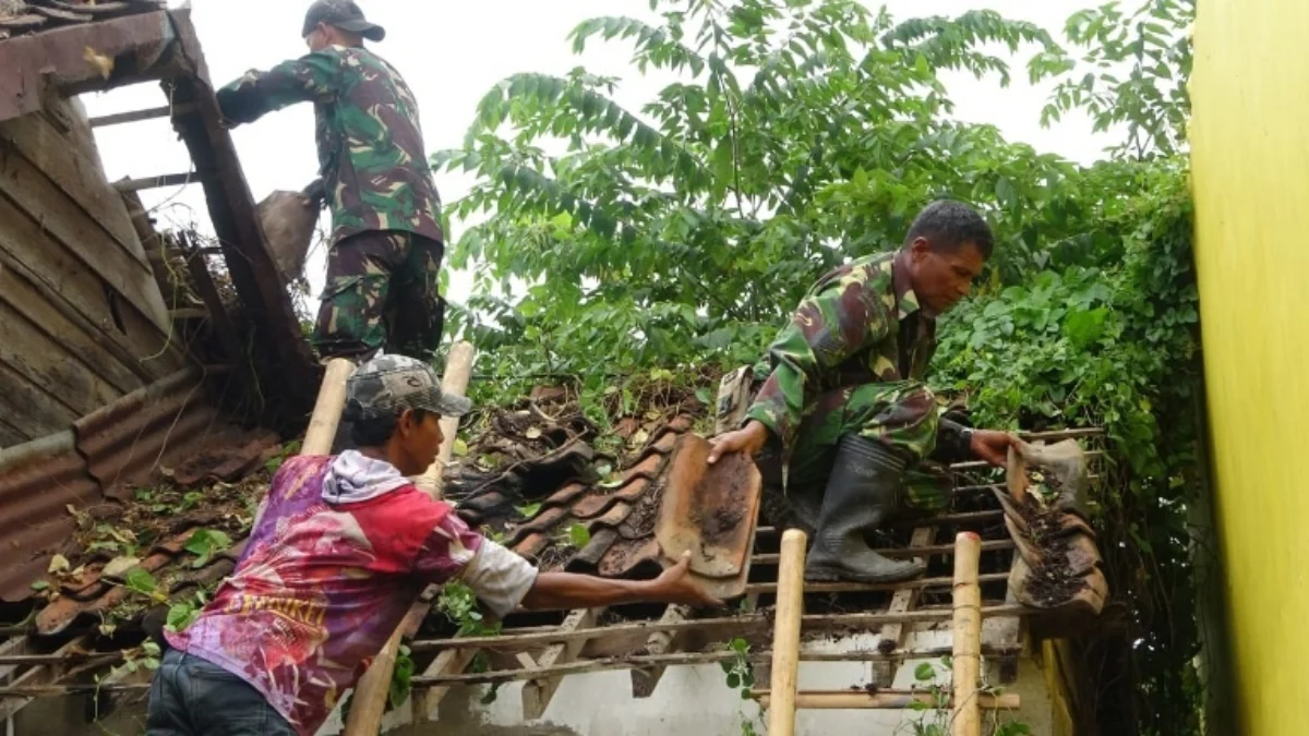
[[[450,396],[463,396],[469,386],[469,375],[473,372],[473,346],[458,342],[450,346],[450,356],[445,361],[445,377],[441,380],[441,393]],[[441,498],[441,470],[449,462],[454,452],[454,436],[459,430],[458,416],[442,416],[441,449],[436,460],[420,475],[415,478],[415,485],[432,494],[432,498]],[[368,672],[359,678],[355,685],[353,702],[350,707],[350,718],[346,720],[344,736],[373,736],[382,726],[382,714],[386,712],[386,697],[391,686],[391,673],[395,669],[395,656],[399,653],[401,640],[406,633],[418,630],[427,616],[431,604],[415,602],[401,625],[391,633],[377,659],[368,667]]]

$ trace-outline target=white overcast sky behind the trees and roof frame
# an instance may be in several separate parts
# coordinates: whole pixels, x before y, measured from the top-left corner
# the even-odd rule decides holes
[[[577,64],[624,81],[618,101],[637,109],[662,81],[643,80],[627,65],[630,43],[593,42],[579,58],[567,42],[568,31],[593,16],[651,16],[647,0],[359,0],[369,20],[386,28],[387,37],[373,48],[394,64],[418,96],[423,132],[431,151],[461,144],[478,101],[501,79],[522,71],[563,73]],[[179,3],[174,1],[173,5]],[[877,8],[884,3],[868,0]],[[928,14],[958,14],[984,7],[1034,21],[1063,38],[1064,20],[1093,0],[888,0],[897,20]],[[300,0],[192,0],[192,18],[215,84],[225,84],[250,68],[266,69],[305,52],[300,38],[308,1]],[[1018,63],[1013,84],[1001,89],[994,80],[969,75],[946,79],[956,114],[969,122],[997,126],[1011,140],[1031,144],[1080,162],[1093,161],[1110,141],[1093,136],[1084,118],[1067,119],[1051,130],[1039,126],[1047,88],[1026,84]],[[92,115],[154,107],[162,103],[157,85],[137,85],[84,102]],[[298,190],[317,172],[313,107],[297,105],[233,131],[246,179],[255,199],[276,189]],[[181,173],[190,169],[186,148],[164,119],[97,130],[101,157],[110,179]],[[452,202],[465,194],[469,179],[439,175],[441,196]],[[158,207],[164,221],[195,221],[208,230],[208,213],[198,185],[144,191],[147,207]],[[448,236],[452,242],[456,232]],[[323,280],[325,257],[312,255],[306,272],[314,289]],[[450,297],[467,296],[469,279],[452,278]],[[315,291],[317,293],[317,291]]]

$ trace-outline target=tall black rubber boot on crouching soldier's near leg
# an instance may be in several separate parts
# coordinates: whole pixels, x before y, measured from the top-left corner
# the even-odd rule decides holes
[[[818,515],[805,580],[891,583],[927,571],[920,561],[888,559],[868,546],[868,534],[899,507],[905,457],[857,435],[840,439]]]

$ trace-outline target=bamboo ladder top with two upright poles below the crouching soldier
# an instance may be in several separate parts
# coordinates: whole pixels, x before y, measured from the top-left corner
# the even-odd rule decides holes
[[[772,639],[772,681],[768,690],[753,695],[768,711],[770,736],[795,736],[797,708],[911,708],[918,703],[933,706],[929,693],[878,690],[801,691],[797,688],[800,668],[800,633],[804,616],[805,533],[788,529],[781,537],[778,570],[776,626]],[[982,588],[978,563],[982,540],[973,532],[961,532],[954,540],[953,602],[953,694],[950,698],[950,735],[980,736],[982,710],[1016,708],[1018,697],[991,695],[978,691],[982,664]]]

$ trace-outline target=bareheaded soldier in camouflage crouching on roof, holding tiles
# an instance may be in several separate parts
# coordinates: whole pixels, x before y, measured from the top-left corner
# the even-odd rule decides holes
[[[920,575],[922,562],[886,559],[867,538],[906,500],[922,511],[948,503],[940,483],[907,471],[933,451],[1004,464],[1012,437],[940,419],[923,382],[936,317],[967,293],[991,249],[980,215],[935,202],[898,251],[819,279],[757,367],[763,386],[742,427],[715,440],[709,462],[726,452],[755,454],[766,482],[783,487],[796,516],[816,529],[806,579]]]

